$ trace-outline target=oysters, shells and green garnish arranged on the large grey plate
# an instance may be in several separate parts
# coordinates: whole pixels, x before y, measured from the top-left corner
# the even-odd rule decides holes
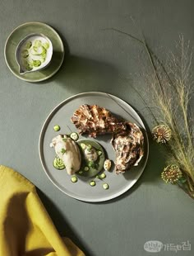
[[[59,134],[51,142],[50,146],[56,153],[53,167],[66,169],[72,175],[72,183],[76,183],[79,176],[105,178],[104,172],[110,170],[112,163],[115,173],[121,175],[141,161],[144,155],[144,136],[136,124],[118,120],[104,107],[87,104],[74,111],[71,121],[80,135],[93,138],[79,140],[78,133],[74,131],[70,135]],[[60,126],[56,125],[53,129],[59,131]],[[99,135],[106,134],[112,135],[109,143],[113,145],[115,159],[107,159],[103,147],[96,141]],[[95,180],[90,181],[90,186],[95,186]],[[108,189],[109,184],[104,183],[103,187]]]

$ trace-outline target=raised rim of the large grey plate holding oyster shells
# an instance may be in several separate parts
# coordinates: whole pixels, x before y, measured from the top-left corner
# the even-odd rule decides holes
[[[43,149],[41,149],[41,142],[44,140],[44,132],[45,132],[45,129],[46,129],[46,125],[48,123],[48,121],[50,120],[50,117],[58,110],[58,108],[60,106],[62,106],[65,102],[69,102],[71,101],[73,98],[76,98],[76,97],[81,97],[81,96],[84,96],[84,95],[90,95],[90,94],[97,94],[97,95],[108,95],[109,97],[114,97],[114,98],[117,98],[119,99],[120,101],[122,101],[123,103],[127,104],[129,107],[132,107],[130,104],[128,104],[127,102],[125,102],[124,100],[122,100],[120,97],[117,97],[117,96],[114,96],[113,94],[110,94],[108,92],[81,92],[81,93],[77,93],[76,95],[73,95],[71,97],[67,97],[67,99],[63,100],[62,102],[60,102],[56,107],[53,108],[52,111],[49,112],[47,118],[45,119],[44,121],[44,124],[40,130],[40,134],[39,134],[39,159],[40,159],[40,163],[44,169],[44,173],[46,173],[48,179],[51,181],[51,183],[53,183],[53,185],[55,187],[57,187],[60,191],[62,191],[64,194],[66,194],[68,197],[72,197],[72,198],[75,198],[76,200],[79,200],[79,201],[87,201],[87,202],[100,202],[100,201],[110,201],[116,197],[120,197],[122,196],[122,194],[124,194],[125,192],[127,192],[131,187],[134,186],[134,184],[138,181],[139,178],[141,178],[141,174],[144,172],[145,168],[146,168],[146,164],[147,164],[147,160],[148,160],[148,157],[149,157],[149,154],[150,154],[150,145],[149,145],[149,138],[148,138],[148,134],[147,134],[147,130],[146,130],[146,126],[144,125],[144,122],[141,120],[142,124],[143,124],[143,129],[144,129],[144,135],[146,135],[146,159],[145,159],[145,163],[143,165],[143,168],[141,170],[141,172],[138,174],[138,176],[136,177],[136,179],[132,180],[132,183],[131,183],[131,187],[125,187],[123,188],[122,190],[120,190],[119,192],[116,192],[114,195],[110,195],[109,197],[103,197],[103,198],[95,198],[95,199],[92,199],[92,198],[83,198],[83,197],[80,197],[80,196],[72,196],[71,192],[68,192],[66,190],[66,192],[64,190],[62,190],[61,187],[58,186],[58,184],[54,183],[53,182],[53,179],[48,175],[48,172],[46,171],[46,169],[44,168],[44,161],[43,159],[41,158],[41,155],[43,154]],[[136,112],[136,110],[132,107],[133,111]],[[136,112],[136,115],[139,116],[139,114]],[[141,119],[141,116],[139,116],[139,118]]]

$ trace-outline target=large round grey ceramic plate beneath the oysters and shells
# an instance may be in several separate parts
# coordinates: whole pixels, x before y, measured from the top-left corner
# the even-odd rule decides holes
[[[72,183],[71,176],[67,174],[65,169],[57,170],[53,168],[55,152],[53,148],[49,147],[51,140],[58,134],[69,134],[70,132],[76,131],[76,127],[71,122],[71,117],[74,111],[82,104],[97,104],[100,107],[105,107],[111,111],[114,116],[126,121],[135,122],[136,125],[143,130],[145,136],[145,154],[138,166],[133,167],[124,174],[116,174],[112,168],[109,172],[104,172],[106,173],[106,178],[104,179],[85,178],[77,175],[78,181],[76,183]],[[61,127],[61,130],[58,132],[53,130],[53,126],[56,125]],[[87,136],[80,136],[80,139],[85,138],[87,138]],[[110,144],[111,135],[100,135],[97,136],[95,140],[104,148],[106,157],[114,161],[115,152],[113,151],[113,146]],[[126,102],[104,92],[84,92],[69,97],[64,102],[61,102],[49,114],[44,122],[39,137],[39,157],[48,178],[62,192],[81,201],[107,201],[127,192],[127,190],[136,183],[138,178],[140,178],[141,173],[143,173],[146,167],[148,151],[149,145],[146,128],[140,116],[138,116],[136,111]],[[90,187],[91,180],[95,180],[95,187]],[[104,190],[104,183],[109,184],[109,189]]]

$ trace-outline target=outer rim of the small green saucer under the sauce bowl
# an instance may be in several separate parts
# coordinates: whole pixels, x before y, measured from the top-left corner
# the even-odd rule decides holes
[[[35,25],[39,25],[39,26],[47,26],[51,31],[53,31],[57,36],[58,36],[58,40],[60,41],[61,45],[62,45],[62,61],[61,63],[58,65],[58,68],[54,70],[53,73],[49,74],[48,76],[44,77],[44,78],[40,78],[40,79],[28,79],[28,78],[22,78],[20,75],[18,75],[17,73],[13,72],[13,70],[11,69],[10,65],[8,64],[7,62],[7,54],[6,54],[6,49],[7,49],[7,43],[8,43],[8,40],[10,39],[10,37],[12,36],[12,34],[17,31],[18,29],[20,29],[22,26],[25,26],[25,25],[30,25],[30,24],[35,24]],[[42,81],[45,81],[47,80],[48,78],[51,78],[53,77],[53,75],[55,73],[58,72],[58,70],[61,68],[62,66],[62,63],[64,61],[64,56],[65,56],[65,48],[64,48],[64,45],[63,45],[63,42],[62,42],[62,38],[61,36],[58,35],[58,32],[55,31],[55,29],[44,23],[44,22],[40,22],[40,21],[28,21],[28,22],[25,22],[25,23],[22,23],[21,25],[19,26],[16,26],[16,28],[9,34],[9,36],[7,36],[7,40],[5,42],[5,46],[4,46],[4,59],[6,61],[6,64],[7,64],[7,67],[8,69],[10,69],[10,71],[16,76],[16,78],[19,78],[23,81],[26,81],[26,82],[30,82],[30,83],[38,83],[38,82],[42,82]]]

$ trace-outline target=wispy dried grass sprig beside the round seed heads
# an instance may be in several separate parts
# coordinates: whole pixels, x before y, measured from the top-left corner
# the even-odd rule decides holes
[[[184,192],[194,199],[194,123],[189,103],[192,98],[192,49],[183,36],[179,37],[177,53],[171,53],[167,66],[164,67],[146,43],[126,32],[110,28],[130,36],[143,45],[150,59],[153,75],[149,78],[150,89],[155,106],[159,111],[151,111],[155,120],[162,120],[164,126],[169,126],[172,139],[166,143],[169,150],[167,164],[180,168],[182,180],[177,184]],[[145,102],[145,101],[144,101]],[[156,125],[159,125],[157,122]]]

